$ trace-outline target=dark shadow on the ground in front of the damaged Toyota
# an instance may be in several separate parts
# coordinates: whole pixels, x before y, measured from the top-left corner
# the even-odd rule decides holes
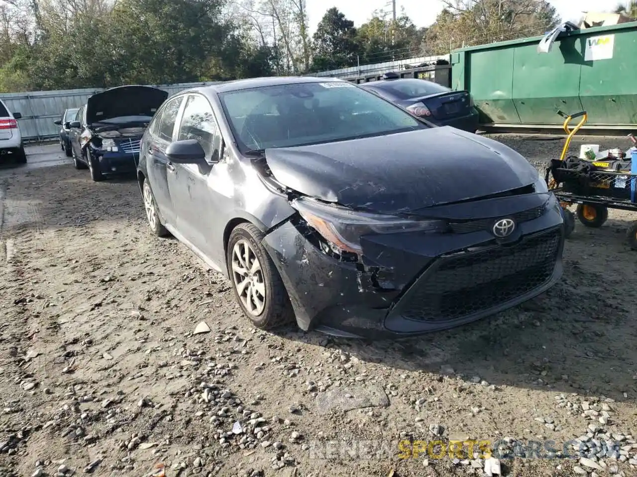
[[[397,340],[335,338],[293,328],[277,333],[401,370],[453,370],[466,380],[480,377],[496,386],[632,400],[637,397],[637,282],[634,274],[617,273],[637,259],[625,234],[618,233],[629,225],[609,221],[594,231],[576,226],[566,242],[564,275],[552,289],[459,328]],[[600,253],[608,262],[592,261],[596,243],[603,244]]]

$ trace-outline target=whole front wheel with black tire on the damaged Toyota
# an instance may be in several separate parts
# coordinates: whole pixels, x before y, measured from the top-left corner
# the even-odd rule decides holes
[[[274,329],[294,321],[294,312],[283,281],[268,252],[264,235],[243,223],[230,235],[227,267],[234,297],[243,314],[261,329]]]

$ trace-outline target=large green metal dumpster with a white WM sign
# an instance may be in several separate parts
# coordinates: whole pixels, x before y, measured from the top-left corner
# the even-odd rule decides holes
[[[561,127],[557,111],[585,110],[587,127],[637,128],[637,22],[454,50],[452,88],[469,90],[486,127]]]

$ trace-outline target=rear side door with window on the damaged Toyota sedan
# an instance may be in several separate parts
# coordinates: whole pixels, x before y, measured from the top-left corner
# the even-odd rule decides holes
[[[168,174],[175,165],[166,157],[166,148],[173,141],[175,125],[183,104],[183,96],[168,100],[155,113],[155,120],[149,125],[147,141],[142,144],[146,156],[148,181],[159,208],[164,225],[178,227],[175,221],[173,201],[168,188]]]

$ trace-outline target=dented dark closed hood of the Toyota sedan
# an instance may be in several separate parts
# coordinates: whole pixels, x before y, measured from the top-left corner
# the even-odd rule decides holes
[[[290,189],[380,213],[483,197],[538,179],[513,149],[452,127],[266,149],[265,156],[275,179]]]

